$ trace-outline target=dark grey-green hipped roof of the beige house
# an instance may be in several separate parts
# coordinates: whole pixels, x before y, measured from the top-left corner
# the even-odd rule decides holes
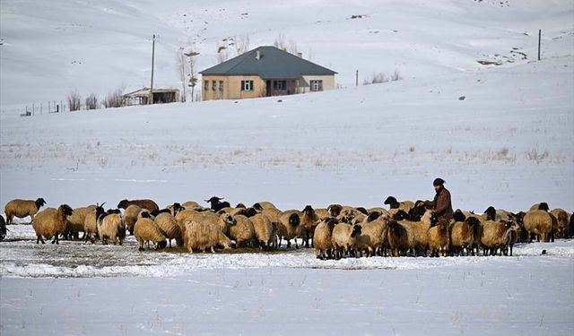
[[[256,58],[257,51],[261,55],[260,59]],[[257,47],[220,65],[205,69],[200,73],[223,75],[254,74],[264,80],[300,78],[302,75],[335,74],[333,70],[316,65],[273,46]]]

